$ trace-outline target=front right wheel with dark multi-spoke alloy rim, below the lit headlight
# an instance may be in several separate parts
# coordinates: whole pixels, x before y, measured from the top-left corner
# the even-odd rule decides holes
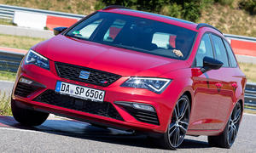
[[[156,144],[167,150],[176,150],[187,133],[189,127],[190,104],[187,95],[178,99],[172,113],[172,120],[168,126],[167,132],[160,138],[154,139]]]

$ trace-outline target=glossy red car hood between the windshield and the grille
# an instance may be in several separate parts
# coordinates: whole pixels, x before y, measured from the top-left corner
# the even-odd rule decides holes
[[[183,60],[144,54],[58,35],[33,47],[48,59],[121,76],[157,77],[173,69],[183,68]]]

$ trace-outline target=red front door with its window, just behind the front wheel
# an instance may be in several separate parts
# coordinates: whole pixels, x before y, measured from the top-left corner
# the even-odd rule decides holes
[[[215,70],[198,73],[203,66],[204,57],[214,58],[210,34],[201,38],[200,46],[192,66],[192,80],[195,91],[194,103],[190,116],[191,130],[218,129],[218,77]]]

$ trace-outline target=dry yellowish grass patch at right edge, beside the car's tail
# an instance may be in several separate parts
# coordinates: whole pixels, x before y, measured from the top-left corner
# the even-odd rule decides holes
[[[241,71],[247,76],[247,82],[256,82],[256,65],[252,63],[239,63]]]

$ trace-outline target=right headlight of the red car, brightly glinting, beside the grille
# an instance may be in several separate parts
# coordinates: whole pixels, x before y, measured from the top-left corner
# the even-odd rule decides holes
[[[121,87],[146,88],[156,94],[161,94],[172,80],[151,77],[130,77]]]

